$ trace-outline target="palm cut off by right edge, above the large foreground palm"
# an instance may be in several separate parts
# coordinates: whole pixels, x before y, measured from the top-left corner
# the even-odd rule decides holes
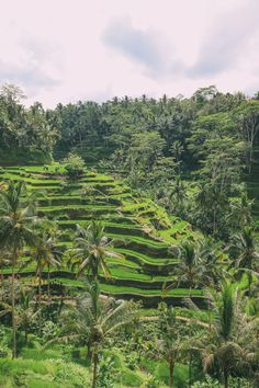
[[[243,232],[233,237],[233,244],[236,259],[234,265],[240,273],[247,274],[248,293],[251,294],[252,273],[259,270],[259,249],[256,243],[252,228],[245,227]]]

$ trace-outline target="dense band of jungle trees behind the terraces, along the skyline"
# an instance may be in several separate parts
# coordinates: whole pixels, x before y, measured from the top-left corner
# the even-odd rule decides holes
[[[124,96],[102,104],[58,104],[55,110],[44,110],[38,102],[25,109],[23,99],[15,85],[4,84],[0,90],[1,148],[36,149],[46,157],[76,150],[92,162],[115,153],[132,168],[146,158],[147,170],[157,159],[171,157],[189,172],[219,141],[233,140],[251,169],[259,132],[258,95],[246,99],[240,92],[224,94],[209,87],[190,99]]]

